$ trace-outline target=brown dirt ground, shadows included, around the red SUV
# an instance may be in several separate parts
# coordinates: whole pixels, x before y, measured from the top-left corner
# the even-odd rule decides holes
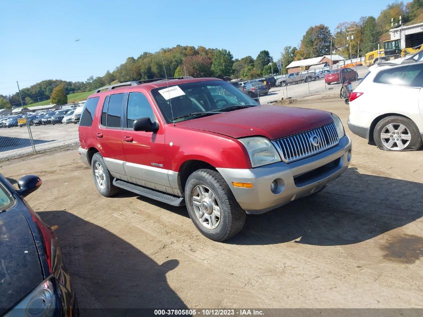
[[[1,163],[37,174],[28,202],[57,225],[81,307],[423,307],[423,151],[384,152],[346,127],[350,168],[321,193],[256,216],[226,243],[185,208],[132,193],[101,196],[75,149]]]

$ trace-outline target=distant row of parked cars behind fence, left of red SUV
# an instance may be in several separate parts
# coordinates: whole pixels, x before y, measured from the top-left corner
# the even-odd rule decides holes
[[[48,125],[48,124],[77,124],[81,117],[83,107],[75,109],[60,109],[60,110],[48,110],[39,113],[27,113],[25,118],[24,114],[10,115],[0,118],[0,128],[12,128],[12,127],[24,127],[27,124],[33,126]]]

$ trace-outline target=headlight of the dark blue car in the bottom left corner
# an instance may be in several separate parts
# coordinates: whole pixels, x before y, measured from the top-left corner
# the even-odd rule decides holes
[[[56,294],[53,283],[46,279],[22,299],[4,317],[50,317],[55,313]]]

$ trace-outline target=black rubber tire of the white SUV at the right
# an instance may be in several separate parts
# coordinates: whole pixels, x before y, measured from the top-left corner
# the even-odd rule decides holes
[[[384,127],[386,127],[388,124],[392,124],[394,128],[396,127],[395,124],[403,124],[405,126],[408,132],[406,135],[409,135],[410,141],[409,143],[405,143],[405,146],[403,147],[403,149],[398,149],[398,143],[396,143],[397,139],[395,137],[393,138],[395,139],[394,148],[389,148],[384,144],[384,142],[382,142],[380,134],[384,132],[382,131],[382,129],[384,129]],[[404,134],[402,134],[402,136],[404,136]],[[386,138],[385,140],[388,140],[388,139],[389,138]],[[374,140],[374,143],[376,143],[377,147],[384,151],[416,151],[423,144],[423,142],[421,141],[421,135],[415,123],[412,122],[408,118],[399,117],[399,116],[386,117],[380,120],[374,127],[373,140]],[[405,139],[402,139],[402,140],[405,140]],[[401,142],[400,139],[399,139],[399,142]]]

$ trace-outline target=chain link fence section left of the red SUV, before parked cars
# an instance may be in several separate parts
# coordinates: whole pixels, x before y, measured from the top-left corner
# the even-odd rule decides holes
[[[77,145],[82,104],[0,116],[0,161]]]

